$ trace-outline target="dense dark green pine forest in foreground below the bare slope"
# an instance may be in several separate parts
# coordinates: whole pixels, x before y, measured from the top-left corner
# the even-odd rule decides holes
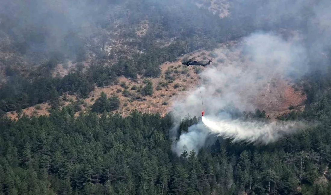
[[[1,194],[330,194],[331,83],[323,76],[309,83],[305,111],[282,119],[314,119],[316,127],[268,146],[219,139],[180,157],[171,151],[170,114],[74,117],[68,106],[2,118]],[[199,120],[184,118],[179,132]]]

